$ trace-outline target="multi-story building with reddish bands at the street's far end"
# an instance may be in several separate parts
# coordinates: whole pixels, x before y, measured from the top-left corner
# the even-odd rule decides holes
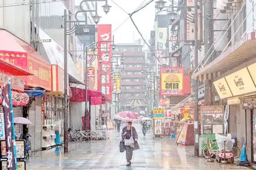
[[[143,86],[145,84],[145,52],[143,45],[117,44],[115,53],[123,55],[121,65],[121,104],[123,110],[145,110]]]

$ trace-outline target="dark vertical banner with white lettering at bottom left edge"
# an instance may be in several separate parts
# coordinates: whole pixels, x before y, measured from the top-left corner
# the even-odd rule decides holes
[[[7,152],[7,169],[13,170],[17,169],[16,166],[16,156],[14,156],[14,153],[16,153],[14,150],[14,143],[13,140],[14,135],[14,127],[12,125],[12,101],[11,101],[11,89],[10,86],[4,86],[2,88],[2,107],[4,110],[4,130],[5,130],[5,136],[6,136],[6,152]],[[13,133],[14,132],[14,133]],[[14,141],[14,142],[13,142]]]

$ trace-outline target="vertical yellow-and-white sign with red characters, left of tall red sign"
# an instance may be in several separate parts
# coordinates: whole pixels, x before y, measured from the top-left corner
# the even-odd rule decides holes
[[[89,87],[90,79],[93,81],[93,86],[95,82],[95,68],[97,53],[93,51],[88,51],[87,53],[87,87]]]

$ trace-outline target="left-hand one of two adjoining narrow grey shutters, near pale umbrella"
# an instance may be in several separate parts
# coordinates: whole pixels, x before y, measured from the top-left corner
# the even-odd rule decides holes
[[[35,151],[35,136],[36,136],[36,102],[33,101],[31,108],[29,108],[29,135],[31,135],[31,151]]]

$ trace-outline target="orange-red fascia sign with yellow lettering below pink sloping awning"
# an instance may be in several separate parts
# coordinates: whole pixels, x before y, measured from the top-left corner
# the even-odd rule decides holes
[[[24,77],[24,82],[27,86],[42,87],[51,91],[51,66],[46,61],[40,60],[26,52],[16,51],[0,51],[0,58],[34,74],[34,76]]]

